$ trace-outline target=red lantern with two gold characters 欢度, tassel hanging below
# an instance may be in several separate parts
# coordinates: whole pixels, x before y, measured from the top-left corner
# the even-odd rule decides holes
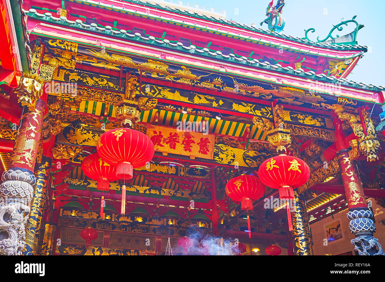
[[[308,165],[301,159],[279,155],[265,160],[258,169],[258,177],[270,188],[279,189],[281,199],[294,199],[293,188],[305,184],[310,177]],[[286,204],[289,231],[293,231],[290,204]]]

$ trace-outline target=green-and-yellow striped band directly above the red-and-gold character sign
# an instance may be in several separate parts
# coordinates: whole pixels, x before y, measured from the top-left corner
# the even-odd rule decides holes
[[[197,115],[189,115],[184,113],[170,112],[166,110],[153,109],[150,111],[142,111],[141,121],[152,123],[154,122],[155,112],[159,113],[158,123],[159,125],[166,125],[176,127],[177,122],[202,122],[206,120],[209,132],[218,133],[223,135],[229,135],[234,137],[241,137],[247,126],[250,127],[251,139],[267,140],[267,135],[263,130],[260,130],[255,125],[248,125],[241,122],[231,122],[228,120],[218,120],[216,118],[199,117]]]

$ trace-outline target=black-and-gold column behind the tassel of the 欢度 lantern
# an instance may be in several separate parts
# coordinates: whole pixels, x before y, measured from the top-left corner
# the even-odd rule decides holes
[[[291,212],[291,222],[293,223],[294,254],[313,255],[305,197],[294,190],[293,202],[295,204],[294,210]]]

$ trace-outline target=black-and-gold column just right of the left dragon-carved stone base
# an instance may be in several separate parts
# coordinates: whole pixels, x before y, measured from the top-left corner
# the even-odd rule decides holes
[[[26,244],[23,250],[24,255],[37,255],[51,163],[52,159],[43,157],[42,162],[36,165],[35,177],[37,181],[31,202],[31,212],[25,228]]]

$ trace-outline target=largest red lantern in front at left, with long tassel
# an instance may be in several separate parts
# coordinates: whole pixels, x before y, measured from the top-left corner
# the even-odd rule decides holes
[[[119,179],[132,178],[132,170],[142,167],[154,156],[154,144],[142,132],[129,128],[117,128],[104,132],[96,145],[100,157],[116,165]],[[122,186],[121,214],[126,213],[126,185]]]

